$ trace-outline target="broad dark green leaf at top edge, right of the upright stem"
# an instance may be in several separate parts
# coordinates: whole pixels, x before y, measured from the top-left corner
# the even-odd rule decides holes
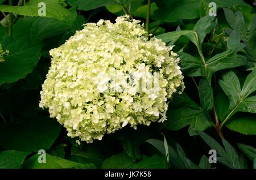
[[[159,9],[154,12],[155,18],[164,22],[176,22],[179,19],[195,19],[200,17],[200,0],[189,1],[156,1]]]

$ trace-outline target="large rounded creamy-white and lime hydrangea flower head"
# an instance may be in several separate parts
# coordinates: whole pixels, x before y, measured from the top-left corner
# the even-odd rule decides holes
[[[171,46],[155,37],[147,40],[138,20],[115,21],[87,23],[49,52],[40,107],[49,109],[68,136],[79,137],[77,143],[101,140],[128,125],[136,129],[165,121],[167,98],[184,89]]]

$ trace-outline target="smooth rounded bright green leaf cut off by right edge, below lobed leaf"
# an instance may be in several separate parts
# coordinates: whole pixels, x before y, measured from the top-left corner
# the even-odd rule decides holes
[[[245,135],[256,134],[256,114],[234,114],[225,126]]]

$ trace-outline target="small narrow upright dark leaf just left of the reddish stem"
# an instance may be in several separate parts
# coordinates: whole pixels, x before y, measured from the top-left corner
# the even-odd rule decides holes
[[[199,97],[201,106],[205,112],[209,112],[213,108],[213,89],[209,85],[206,78],[202,78],[199,82]]]

